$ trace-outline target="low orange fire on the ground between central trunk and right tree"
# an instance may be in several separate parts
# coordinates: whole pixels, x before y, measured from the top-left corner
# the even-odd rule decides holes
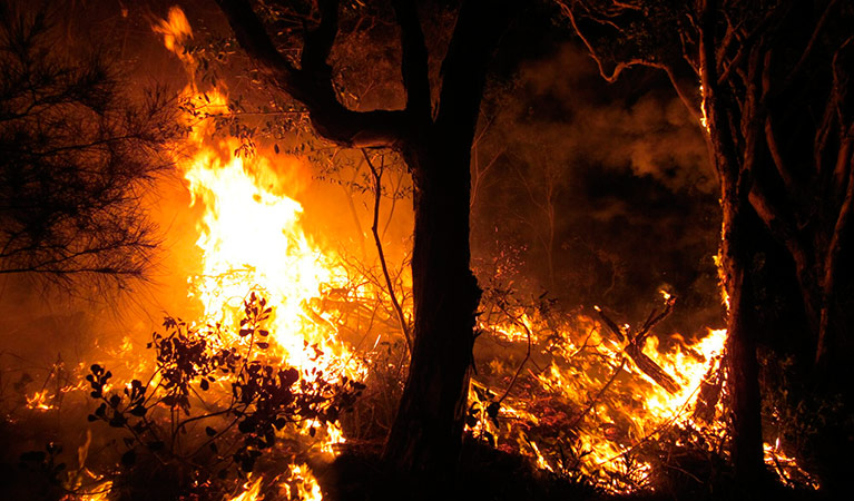
[[[669,301],[668,295],[665,301]],[[527,344],[530,337],[533,351],[539,352],[536,358],[548,356],[550,362],[541,370],[528,369],[530,377],[524,384],[534,394],[509,393],[501,403],[503,424],[478,423],[471,429],[475,436],[485,431],[497,436],[499,448],[510,445],[530,455],[540,469],[578,470],[603,489],[626,492],[648,483],[652,471],[649,463],[634,459],[627,470],[627,459],[646,441],[674,426],[696,425],[711,433],[724,430],[719,400],[713,423],[695,423],[694,411],[706,379],[717,373],[725,330],[708,331],[690,344],[677,338],[679,342],[665,352],[659,351],[658,337],[646,338],[642,353],[678,385],[678,391],[669,392],[640,370],[627,355],[627,346],[593,318],[582,315],[572,325],[556,325],[537,313],[510,316],[510,322],[483,322],[480,327],[511,344]],[[629,332],[628,326],[618,328]],[[499,367],[499,372],[505,369],[501,364],[490,366]],[[473,399],[477,393],[487,393],[485,385],[478,383],[475,387],[480,390]],[[537,400],[550,402],[550,409],[538,407],[532,403]],[[547,429],[541,438],[531,435],[540,429]],[[538,443],[551,441],[554,434],[575,434],[575,439],[562,445],[551,443],[550,450]],[[572,449],[578,462],[567,463],[570,459],[556,449]]]

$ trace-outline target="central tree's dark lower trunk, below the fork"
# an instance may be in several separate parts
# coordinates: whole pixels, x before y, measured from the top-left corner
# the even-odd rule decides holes
[[[436,138],[404,155],[416,173],[415,335],[384,459],[399,471],[441,481],[460,452],[481,294],[469,267],[470,154]]]

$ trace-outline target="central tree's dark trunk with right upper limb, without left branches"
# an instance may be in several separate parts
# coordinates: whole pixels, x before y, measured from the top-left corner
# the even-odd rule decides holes
[[[442,65],[435,122],[403,150],[415,180],[415,338],[383,458],[439,483],[460,452],[481,293],[469,263],[471,145],[487,62],[508,22],[504,2],[463,4]]]

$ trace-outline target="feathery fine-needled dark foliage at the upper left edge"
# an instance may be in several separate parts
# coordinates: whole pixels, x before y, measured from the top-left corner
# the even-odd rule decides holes
[[[56,16],[0,6],[0,274],[126,285],[157,244],[140,206],[179,132],[105,53],[59,49]]]

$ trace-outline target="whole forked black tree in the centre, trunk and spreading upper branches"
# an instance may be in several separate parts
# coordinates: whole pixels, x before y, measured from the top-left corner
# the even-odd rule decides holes
[[[454,468],[469,387],[481,291],[470,271],[470,157],[487,66],[509,23],[507,1],[467,1],[457,13],[436,94],[416,2],[392,2],[400,30],[402,109],[346,108],[330,67],[336,35],[353,6],[322,0],[305,16],[298,61],[269,37],[249,2],[219,0],[249,57],[268,81],[302,102],[315,130],[345,147],[389,147],[414,184],[415,307],[412,361],[384,459],[435,484]],[[258,12],[269,12],[261,2]],[[345,9],[345,7],[347,9]],[[291,19],[293,21],[293,17]],[[284,21],[283,21],[284,22]],[[293,24],[293,22],[292,22]],[[282,23],[276,24],[279,32]],[[387,26],[387,24],[386,24]],[[438,96],[438,97],[435,97]]]

